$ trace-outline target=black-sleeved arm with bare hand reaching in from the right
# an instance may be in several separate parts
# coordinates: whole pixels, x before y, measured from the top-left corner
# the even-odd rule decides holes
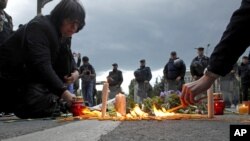
[[[226,75],[250,45],[249,13],[250,1],[242,0],[240,8],[233,13],[226,31],[210,57],[208,72],[199,80],[183,85],[183,105],[198,102],[195,97],[209,89],[219,75]]]

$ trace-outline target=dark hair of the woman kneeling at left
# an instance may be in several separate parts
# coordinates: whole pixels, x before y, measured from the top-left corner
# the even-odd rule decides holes
[[[77,32],[85,25],[85,10],[79,0],[61,0],[50,12],[54,24],[60,28],[65,19],[79,21]]]

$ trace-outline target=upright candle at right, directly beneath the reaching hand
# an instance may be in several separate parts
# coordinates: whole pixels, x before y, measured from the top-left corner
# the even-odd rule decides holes
[[[207,90],[208,118],[214,117],[214,98],[212,88]]]

